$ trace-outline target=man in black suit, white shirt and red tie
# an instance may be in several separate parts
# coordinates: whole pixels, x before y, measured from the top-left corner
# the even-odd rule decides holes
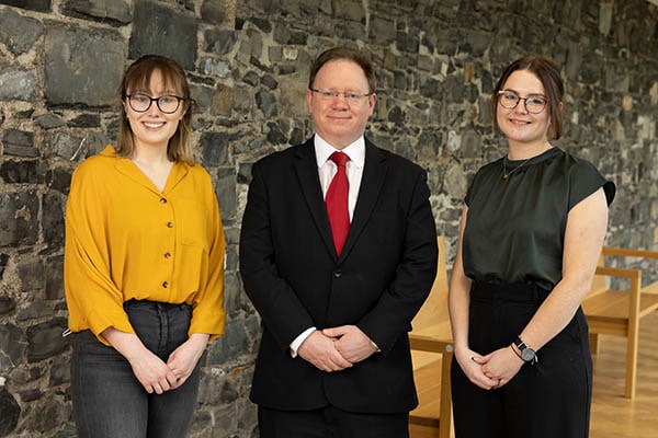
[[[315,136],[252,168],[240,272],[263,325],[261,438],[409,434],[407,332],[434,279],[436,234],[426,172],[364,137],[374,82],[363,54],[322,53],[306,92]]]

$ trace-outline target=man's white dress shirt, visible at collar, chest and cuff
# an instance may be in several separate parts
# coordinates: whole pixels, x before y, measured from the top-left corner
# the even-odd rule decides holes
[[[344,152],[350,158],[345,164],[345,173],[348,174],[348,182],[350,183],[348,210],[350,211],[351,222],[352,218],[354,217],[356,198],[359,197],[359,187],[361,187],[361,177],[363,176],[363,165],[365,163],[365,139],[363,136],[361,136],[356,139],[356,141],[347,146],[345,148],[336,149],[316,134],[314,137],[314,147],[318,164],[318,174],[320,176],[320,186],[322,187],[322,197],[327,196],[327,191],[329,189],[331,180],[338,171],[338,166],[333,161],[329,160],[329,157],[331,157],[333,152],[340,151]],[[316,330],[316,327],[308,327],[291,343],[291,355],[293,357],[297,357],[297,349],[302,343],[306,341],[306,338]]]

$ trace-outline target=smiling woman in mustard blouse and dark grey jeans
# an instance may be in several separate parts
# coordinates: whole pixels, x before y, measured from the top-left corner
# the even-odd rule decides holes
[[[75,171],[65,289],[79,437],[183,437],[205,346],[224,333],[225,239],[189,146],[190,87],[171,59],[135,61],[116,147]]]

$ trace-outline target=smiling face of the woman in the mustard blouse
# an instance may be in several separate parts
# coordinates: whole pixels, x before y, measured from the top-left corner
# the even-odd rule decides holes
[[[175,90],[172,85],[164,82],[160,70],[152,71],[146,89],[143,90],[141,87],[128,89],[127,94],[135,93],[145,94],[154,99],[163,95],[182,95],[180,90]],[[131,130],[133,131],[133,141],[136,148],[155,147],[167,150],[169,139],[175,134],[179,123],[186,111],[184,101],[181,102],[179,108],[172,114],[162,113],[155,101],[143,113],[133,110],[127,97],[124,99],[123,105]]]

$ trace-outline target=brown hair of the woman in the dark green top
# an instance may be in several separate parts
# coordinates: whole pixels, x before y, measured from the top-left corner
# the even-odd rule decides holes
[[[491,118],[494,122],[494,129],[500,132],[498,118],[496,117],[496,106],[498,105],[499,97],[498,92],[502,90],[508,78],[517,70],[527,70],[542,81],[544,91],[546,92],[546,106],[551,117],[548,137],[557,140],[561,136],[563,114],[560,104],[565,94],[565,85],[559,73],[559,67],[557,67],[553,59],[546,56],[524,56],[517,59],[504,69],[491,94]],[[551,134],[553,134],[553,136],[551,136]]]

